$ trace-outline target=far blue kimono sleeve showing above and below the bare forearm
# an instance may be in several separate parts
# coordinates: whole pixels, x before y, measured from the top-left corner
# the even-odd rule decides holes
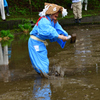
[[[55,24],[55,29],[57,31],[58,34],[62,34],[64,36],[68,36],[68,33],[61,27],[61,25],[57,22]],[[66,44],[66,41],[64,42],[62,39],[51,39],[50,40],[51,42],[54,42],[54,41],[57,41],[58,44],[61,46],[61,48],[64,48],[65,44]]]

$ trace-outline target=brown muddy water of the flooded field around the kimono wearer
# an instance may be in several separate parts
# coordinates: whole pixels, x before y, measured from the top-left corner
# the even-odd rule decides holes
[[[75,44],[49,43],[50,69],[64,77],[43,79],[32,68],[26,36],[0,43],[0,100],[100,100],[100,25],[64,27]]]

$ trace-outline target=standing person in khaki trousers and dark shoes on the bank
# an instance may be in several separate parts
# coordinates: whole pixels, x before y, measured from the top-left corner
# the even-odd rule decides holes
[[[75,23],[81,23],[81,19],[82,19],[81,0],[72,0],[72,8],[73,8]]]

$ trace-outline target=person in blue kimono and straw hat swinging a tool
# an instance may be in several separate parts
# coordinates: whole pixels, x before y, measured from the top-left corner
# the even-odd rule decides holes
[[[60,12],[62,17],[67,15],[67,10],[64,7],[53,3],[45,3],[45,8],[39,13],[40,18],[30,32],[28,40],[29,56],[33,68],[46,78],[49,74],[46,40],[58,42],[64,48],[66,41],[71,38],[57,21]]]

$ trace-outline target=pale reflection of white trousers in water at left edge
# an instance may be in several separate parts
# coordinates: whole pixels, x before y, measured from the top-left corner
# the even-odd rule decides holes
[[[8,50],[8,46],[4,46],[0,43],[0,78],[3,78],[4,82],[9,82],[10,70],[9,70],[9,58],[11,57],[11,49]]]

